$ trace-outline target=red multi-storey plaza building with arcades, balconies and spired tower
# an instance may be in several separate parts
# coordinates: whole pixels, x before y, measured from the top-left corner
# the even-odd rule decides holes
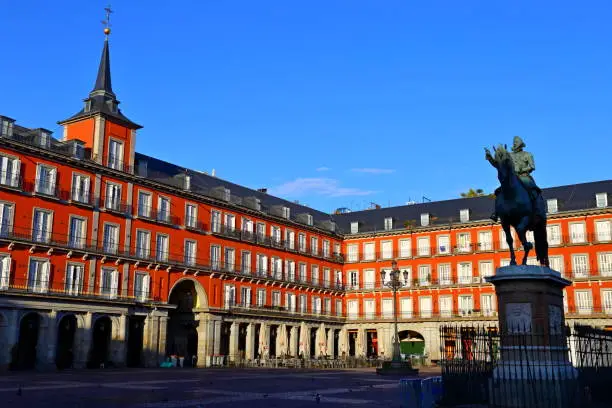
[[[0,366],[390,356],[392,260],[405,353],[457,347],[442,324],[496,326],[483,278],[509,255],[491,198],[327,214],[139,154],[110,68],[107,37],[61,137],[0,116]],[[566,312],[601,327],[611,191],[544,190],[551,266],[574,280]]]

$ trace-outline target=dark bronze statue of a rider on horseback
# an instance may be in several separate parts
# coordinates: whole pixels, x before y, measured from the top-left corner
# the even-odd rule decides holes
[[[501,221],[510,248],[511,265],[516,265],[510,231],[512,226],[525,250],[522,264],[527,264],[529,251],[533,248],[527,241],[527,231],[533,231],[537,259],[540,265],[549,266],[544,198],[531,176],[531,172],[535,170],[535,162],[533,155],[523,150],[525,146],[525,142],[515,136],[510,152],[505,145],[494,147],[494,155],[485,148],[485,158],[497,169],[497,178],[501,184],[495,190],[495,212],[491,218],[493,221],[498,218]]]

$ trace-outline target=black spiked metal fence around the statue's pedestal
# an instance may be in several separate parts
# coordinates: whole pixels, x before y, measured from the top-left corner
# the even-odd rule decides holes
[[[552,336],[443,326],[440,340],[442,406],[610,406],[612,332],[575,325]]]

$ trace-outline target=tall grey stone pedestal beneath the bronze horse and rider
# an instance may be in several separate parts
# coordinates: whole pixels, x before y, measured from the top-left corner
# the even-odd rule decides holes
[[[497,407],[577,407],[578,373],[569,360],[563,288],[550,268],[512,265],[487,278],[495,285],[500,360],[489,382]]]

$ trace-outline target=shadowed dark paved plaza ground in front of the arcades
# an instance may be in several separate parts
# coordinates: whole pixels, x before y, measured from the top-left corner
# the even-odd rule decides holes
[[[429,371],[420,375],[436,374]],[[377,376],[372,369],[124,369],[7,373],[0,376],[0,405],[12,408],[359,405],[406,408],[398,384],[399,378]]]

